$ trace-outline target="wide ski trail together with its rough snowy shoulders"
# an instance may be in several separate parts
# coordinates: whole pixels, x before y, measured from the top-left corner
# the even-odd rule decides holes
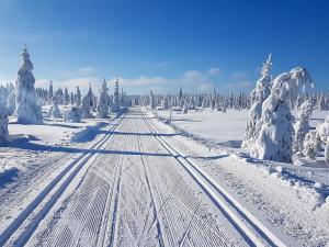
[[[328,244],[329,203],[303,181],[209,151],[140,109],[101,130],[33,184],[2,190],[1,245]]]

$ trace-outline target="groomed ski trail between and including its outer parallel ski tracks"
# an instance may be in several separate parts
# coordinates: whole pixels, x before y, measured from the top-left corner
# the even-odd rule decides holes
[[[156,133],[140,109],[36,201],[5,246],[281,246]],[[83,158],[84,160],[84,158]],[[79,164],[77,164],[79,165]],[[55,198],[54,198],[55,197]],[[235,205],[237,206],[237,205]]]

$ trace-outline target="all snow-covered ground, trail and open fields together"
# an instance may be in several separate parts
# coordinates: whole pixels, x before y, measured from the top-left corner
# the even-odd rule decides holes
[[[328,168],[249,158],[238,145],[247,117],[173,112],[169,125],[132,108],[106,121],[11,123],[0,246],[328,245]]]

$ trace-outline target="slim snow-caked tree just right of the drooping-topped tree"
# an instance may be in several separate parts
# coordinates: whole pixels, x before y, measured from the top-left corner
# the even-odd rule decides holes
[[[294,154],[303,154],[304,138],[305,135],[309,132],[309,119],[311,113],[311,102],[305,101],[300,106],[297,114],[297,121],[294,124],[294,145],[293,153]]]

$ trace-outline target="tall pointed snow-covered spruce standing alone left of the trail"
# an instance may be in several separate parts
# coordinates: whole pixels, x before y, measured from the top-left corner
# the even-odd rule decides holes
[[[15,81],[15,114],[18,123],[34,124],[43,122],[42,108],[37,104],[35,93],[35,78],[32,74],[33,64],[30,60],[30,54],[24,45],[22,53],[22,63]]]

